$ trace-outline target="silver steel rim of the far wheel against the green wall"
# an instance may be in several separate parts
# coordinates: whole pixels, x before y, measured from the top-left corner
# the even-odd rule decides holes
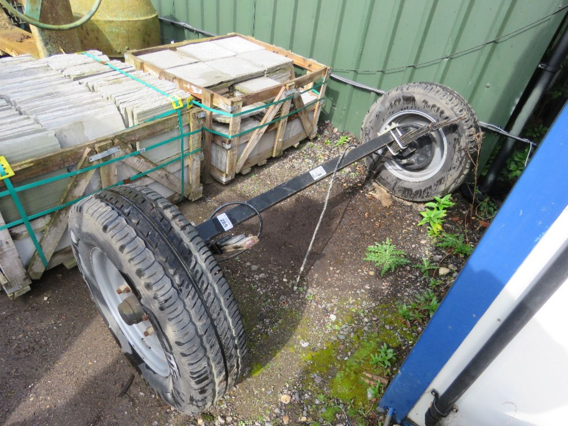
[[[385,131],[387,126],[391,123],[398,124],[415,124],[417,126],[427,126],[430,123],[435,123],[436,119],[422,111],[405,110],[397,112],[389,117],[379,129],[379,133]],[[436,176],[444,165],[446,157],[448,156],[448,141],[442,130],[437,130],[431,133],[433,139],[433,154],[432,161],[428,166],[422,170],[409,170],[401,166],[395,160],[387,160],[385,168],[389,170],[394,176],[407,182],[422,182]],[[382,150],[384,151],[384,149]],[[381,153],[382,153],[381,151]]]

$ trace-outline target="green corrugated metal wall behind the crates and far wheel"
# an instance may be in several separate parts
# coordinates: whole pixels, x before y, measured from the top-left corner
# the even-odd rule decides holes
[[[505,126],[565,11],[529,24],[561,9],[566,0],[152,2],[160,16],[215,34],[252,35],[382,90],[411,81],[443,83],[463,95],[480,120]],[[167,43],[197,35],[162,23],[162,37]],[[471,49],[497,37],[502,38]],[[471,50],[436,60],[466,49]],[[423,62],[428,63],[406,66]],[[326,94],[323,118],[358,136],[377,95],[337,81],[329,83]],[[495,141],[485,138],[482,165]]]

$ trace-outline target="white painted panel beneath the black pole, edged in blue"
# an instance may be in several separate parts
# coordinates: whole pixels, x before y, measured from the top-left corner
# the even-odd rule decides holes
[[[429,391],[444,392],[485,343],[550,257],[568,240],[568,208],[545,233],[471,333],[428,386],[408,418],[424,424]],[[528,426],[568,423],[568,283],[545,303],[440,424]]]

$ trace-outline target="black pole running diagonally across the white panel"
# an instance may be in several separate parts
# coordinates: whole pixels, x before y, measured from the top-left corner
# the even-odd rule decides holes
[[[491,335],[471,361],[450,384],[448,389],[437,397],[424,415],[426,426],[436,426],[438,421],[448,416],[454,404],[479,378],[492,361],[506,348],[513,338],[523,329],[534,314],[554,294],[558,287],[568,278],[568,240],[549,260],[544,267],[544,273],[534,279],[531,290],[519,300],[519,303],[511,311],[507,318],[499,325],[499,328]]]

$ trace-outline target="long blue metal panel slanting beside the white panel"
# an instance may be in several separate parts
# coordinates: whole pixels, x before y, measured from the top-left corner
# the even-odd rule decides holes
[[[568,205],[567,135],[565,106],[383,395],[399,423]]]

